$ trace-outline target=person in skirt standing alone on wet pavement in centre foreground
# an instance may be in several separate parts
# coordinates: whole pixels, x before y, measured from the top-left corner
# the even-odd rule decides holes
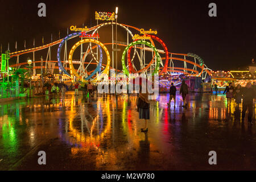
[[[142,91],[142,90],[141,90]],[[141,129],[141,132],[147,132],[147,122],[150,119],[150,102],[148,101],[148,92],[146,93],[139,93],[137,107],[139,111],[139,119],[145,120],[145,127]]]

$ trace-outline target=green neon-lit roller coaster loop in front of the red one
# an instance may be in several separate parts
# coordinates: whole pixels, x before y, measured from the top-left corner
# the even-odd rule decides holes
[[[147,41],[144,41],[144,40],[137,40],[137,41],[134,41],[132,43],[130,43],[126,48],[125,50],[123,51],[123,54],[122,54],[122,67],[123,67],[123,73],[125,73],[125,75],[129,76],[129,71],[127,71],[126,69],[126,65],[125,65],[125,55],[126,55],[126,52],[128,51],[128,49],[131,47],[131,46],[134,46],[135,44],[145,44],[146,46],[150,47],[153,49],[153,51],[155,52],[156,54],[156,67],[155,67],[155,70],[153,72],[153,75],[155,75],[156,73],[158,74],[159,72],[159,63],[160,63],[160,55],[157,51],[157,49],[155,48],[155,46],[153,46],[150,42],[147,42]]]

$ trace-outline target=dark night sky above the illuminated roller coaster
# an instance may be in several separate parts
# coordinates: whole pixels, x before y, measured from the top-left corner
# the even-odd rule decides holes
[[[237,69],[256,58],[256,1],[2,1],[0,43],[3,51],[32,48],[67,34],[67,27],[96,24],[95,11],[114,11],[118,22],[158,30],[168,51],[196,53],[213,70]],[[38,17],[38,3],[47,6],[46,18]],[[217,17],[208,16],[210,2],[217,4]],[[39,55],[36,55],[39,57]],[[54,58],[56,59],[56,58]],[[54,60],[53,59],[53,60]]]

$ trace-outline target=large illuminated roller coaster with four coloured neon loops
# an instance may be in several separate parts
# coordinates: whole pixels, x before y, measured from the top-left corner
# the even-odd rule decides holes
[[[122,31],[126,32],[126,42],[114,40],[113,26],[118,26]],[[97,35],[101,35],[99,32],[101,32],[101,28],[103,27],[112,27],[112,36],[109,36],[112,37],[111,42],[102,43],[100,42],[101,38],[89,36],[95,35],[96,33]],[[126,76],[128,76],[129,73],[151,73],[153,75],[172,75],[180,73],[185,76],[202,77],[205,79],[207,76],[211,75],[211,70],[204,64],[204,60],[201,59],[201,57],[194,53],[169,52],[163,40],[156,35],[144,34],[145,39],[135,39],[139,37],[139,33],[141,33],[140,28],[127,24],[116,22],[97,24],[97,26],[87,28],[86,31],[74,32],[63,39],[43,46],[11,52],[10,57],[16,58],[16,64],[9,65],[9,67],[24,67],[27,65],[27,62],[19,63],[19,56],[32,52],[32,69],[34,75],[37,69],[41,69],[40,73],[42,73],[42,69],[51,68],[53,71],[54,69],[58,69],[60,75],[65,75],[72,81],[100,81],[102,73],[110,77],[112,76],[109,75],[110,69],[115,69],[117,73],[123,73]],[[121,33],[118,31],[118,35],[119,34]],[[84,37],[83,35],[88,35],[88,37]],[[68,52],[67,44],[71,39],[79,40]],[[56,57],[53,56],[55,57],[54,60],[51,56],[53,46],[58,46],[57,52],[55,53]],[[109,46],[112,46],[112,48],[107,48]],[[114,52],[118,51],[114,46],[124,48],[121,59],[117,57],[114,59]],[[73,54],[75,52],[77,53],[77,48],[80,48],[80,57],[79,59],[73,59]],[[43,49],[48,49],[46,60],[35,60],[35,52],[42,51]],[[64,49],[64,54],[63,52],[61,54],[62,49]],[[109,50],[111,52],[109,52]],[[120,50],[121,49],[119,49],[119,51]],[[149,56],[150,59],[148,59]],[[114,68],[114,61],[118,61],[122,64],[122,70],[118,70],[117,67]],[[55,66],[56,63],[57,66]]]

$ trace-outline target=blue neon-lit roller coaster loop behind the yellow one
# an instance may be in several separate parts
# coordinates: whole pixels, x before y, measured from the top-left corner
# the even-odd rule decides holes
[[[65,73],[66,75],[68,75],[69,77],[71,76],[63,67],[63,65],[61,64],[61,60],[60,60],[60,52],[61,52],[61,48],[64,45],[64,43],[72,38],[75,38],[76,36],[81,36],[82,33],[81,32],[75,32],[73,34],[69,34],[68,36],[66,36],[63,40],[61,40],[60,44],[59,44],[59,48],[57,49],[57,61],[58,61],[58,65],[59,65],[59,70],[63,71],[63,73]],[[93,73],[91,73],[88,77],[85,78],[85,80],[89,80],[93,75],[96,74],[96,72],[100,72],[101,71],[101,63],[102,63],[102,49],[100,46],[98,46],[100,48],[100,61],[98,62],[98,66],[97,68],[93,71]],[[85,56],[85,55],[84,55]],[[83,57],[84,59],[84,57]],[[65,60],[64,60],[65,61]],[[84,65],[83,65],[84,66]]]

